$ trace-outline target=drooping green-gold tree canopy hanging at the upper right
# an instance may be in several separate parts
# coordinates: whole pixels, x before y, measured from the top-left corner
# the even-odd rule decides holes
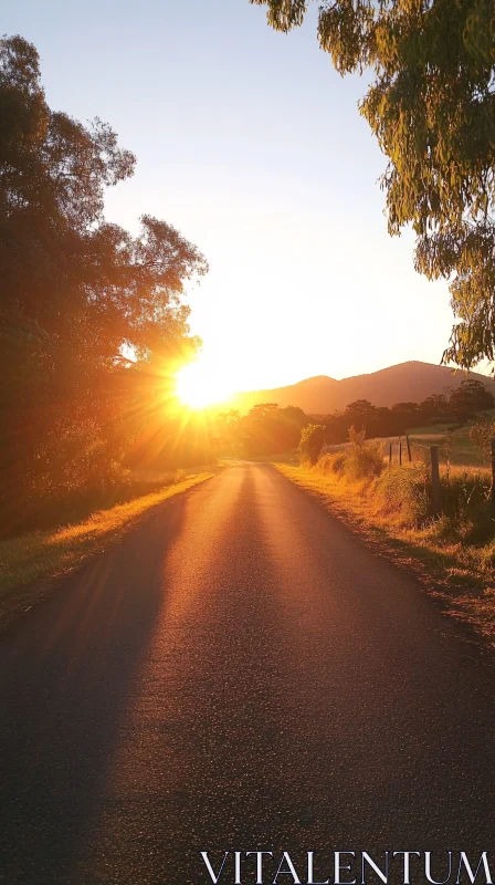
[[[310,0],[250,2],[286,32]],[[493,0],[319,0],[318,39],[341,75],[372,72],[360,112],[389,160],[389,231],[412,226],[417,270],[450,281],[444,361],[494,360]]]

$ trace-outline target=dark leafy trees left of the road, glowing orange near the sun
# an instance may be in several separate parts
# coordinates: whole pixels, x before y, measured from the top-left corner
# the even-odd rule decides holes
[[[49,107],[20,37],[0,41],[0,121],[1,485],[15,522],[28,504],[122,481],[198,345],[181,296],[207,263],[166,221],[144,216],[137,236],[105,221],[105,188],[135,158],[99,119]]]

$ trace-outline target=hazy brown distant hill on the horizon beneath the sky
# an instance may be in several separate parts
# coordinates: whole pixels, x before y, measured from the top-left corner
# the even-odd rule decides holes
[[[420,403],[445,387],[459,387],[465,377],[483,382],[495,396],[495,382],[476,372],[453,373],[447,366],[415,361],[382,368],[369,375],[336,381],[327,375],[299,381],[288,387],[238,394],[229,406],[247,412],[257,403],[277,403],[281,408],[298,406],[308,415],[328,415],[345,409],[355,399],[368,399],[373,406]]]

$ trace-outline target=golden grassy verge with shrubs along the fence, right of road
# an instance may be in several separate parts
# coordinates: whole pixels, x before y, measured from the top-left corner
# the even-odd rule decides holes
[[[313,467],[276,461],[274,466],[368,542],[413,571],[444,611],[495,645],[493,527],[488,534],[481,532],[472,513],[462,509],[454,517],[433,519],[428,514],[424,477],[412,470],[378,468],[378,476],[352,477],[338,458],[324,456]]]

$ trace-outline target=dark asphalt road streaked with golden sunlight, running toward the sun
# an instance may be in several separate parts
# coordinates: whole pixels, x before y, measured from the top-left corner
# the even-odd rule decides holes
[[[413,579],[272,467],[232,467],[2,637],[0,881],[489,850],[494,688]]]

